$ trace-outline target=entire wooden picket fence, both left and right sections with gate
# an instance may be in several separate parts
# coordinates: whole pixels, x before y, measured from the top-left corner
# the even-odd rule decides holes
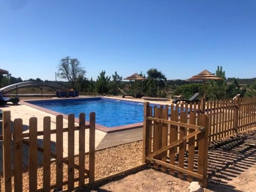
[[[256,107],[253,98],[210,101],[201,107],[200,103],[176,106],[152,106],[144,103],[143,161],[154,163],[155,168],[164,172],[178,173],[180,178],[187,176],[188,181],[197,178],[207,185],[208,141],[218,140],[231,134],[252,129],[256,126]],[[204,109],[203,112],[200,108]],[[169,119],[170,116],[170,119]],[[68,116],[68,127],[63,128],[63,117],[56,116],[56,129],[51,129],[50,117],[44,118],[44,131],[37,131],[37,118],[29,121],[29,133],[23,133],[23,120],[15,119],[11,130],[11,114],[3,113],[3,183],[4,191],[23,191],[23,146],[29,145],[29,190],[50,191],[68,186],[68,191],[84,185],[93,185],[103,180],[123,174],[123,172],[95,180],[95,113],[90,114],[90,124],[86,124],[85,114],[79,115],[79,126],[75,126],[74,115]],[[89,168],[85,166],[85,130],[89,129]],[[78,163],[74,161],[74,135],[79,132]],[[68,133],[68,157],[63,158],[63,133]],[[56,137],[56,151],[51,150],[51,136]],[[43,146],[38,145],[38,137],[43,137]],[[153,138],[153,139],[152,139]],[[11,145],[14,145],[13,149]],[[43,153],[43,184],[38,188],[37,151]],[[13,154],[13,156],[12,156]],[[56,174],[51,174],[51,158],[56,160]],[[11,167],[13,161],[13,167]],[[67,166],[63,166],[63,164]],[[66,170],[63,170],[65,169]],[[12,171],[12,169],[14,171]],[[74,177],[74,170],[79,173]],[[67,179],[63,180],[63,172]],[[13,178],[13,181],[12,181]],[[89,179],[89,183],[86,183]],[[56,181],[52,184],[51,181]],[[78,182],[78,186],[75,186]],[[0,183],[1,184],[1,183]],[[1,186],[0,186],[1,190]],[[1,192],[1,191],[0,191]]]

